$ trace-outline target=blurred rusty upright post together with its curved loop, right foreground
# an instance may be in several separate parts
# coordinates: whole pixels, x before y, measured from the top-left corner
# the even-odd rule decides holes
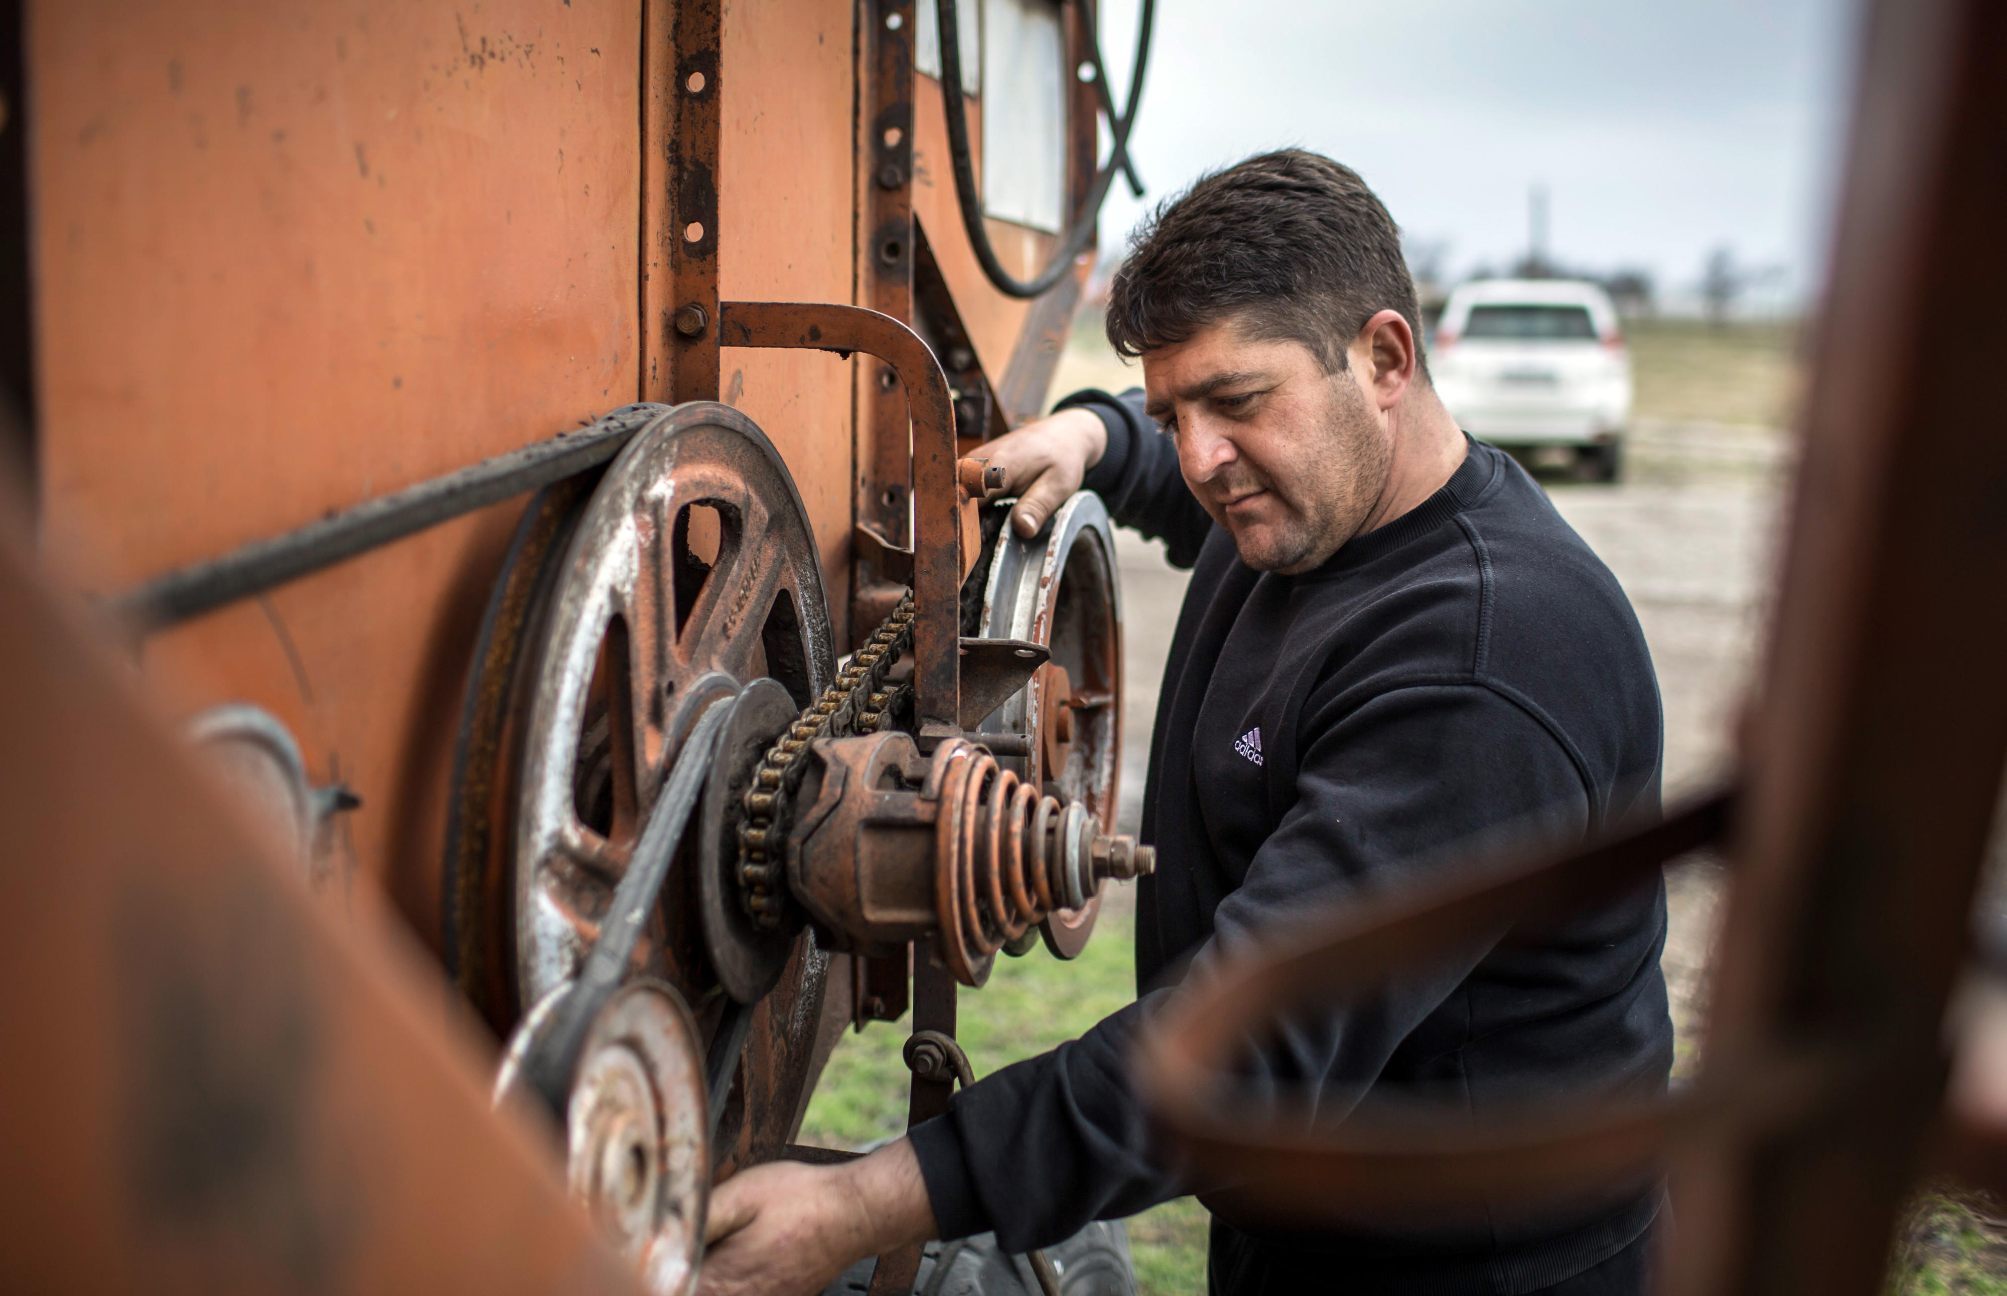
[[[2007,1029],[1997,1011],[1977,1015],[1967,1035],[1969,1049],[1991,1045],[1995,1057],[1965,1067],[1971,1083],[1953,1111],[1965,1123],[1931,1142],[1941,1023],[2007,760],[1997,662],[2007,435],[1987,381],[2007,349],[2007,323],[1991,309],[2007,293],[2007,10],[1883,0],[1858,84],[1694,1095],[1549,1113],[1545,1127],[1517,1140],[1493,1131],[1489,1146],[1373,1127],[1341,1142],[1305,1138],[1301,1115],[1236,1107],[1208,1065],[1192,1065],[1230,1047],[1220,1021],[1236,1037],[1258,1031],[1288,1003],[1385,971],[1395,953],[1467,935],[1467,907],[1417,905],[1405,921],[1361,919],[1230,971],[1168,1015],[1140,1075],[1202,1166],[1250,1170],[1266,1156],[1264,1200],[1276,1196],[1284,1138],[1301,1148],[1288,1174],[1305,1194],[1431,1156],[1461,1168],[1433,1188],[1429,1176],[1405,1180],[1403,1202],[1417,1210],[1501,1186],[1620,1184],[1662,1162],[1676,1226],[1660,1290],[1716,1296],[1879,1292],[1905,1196],[1923,1170],[1957,1164],[1927,1162],[1933,1146],[1985,1140],[1991,1158],[1963,1168],[1995,1184],[2007,1170],[2007,1059],[1985,1027]],[[1513,887],[1505,899],[1533,909],[1584,899],[1525,883],[1493,887],[1493,899]],[[1471,895],[1481,891],[1471,883]],[[1242,1005],[1256,1015],[1228,1015]]]

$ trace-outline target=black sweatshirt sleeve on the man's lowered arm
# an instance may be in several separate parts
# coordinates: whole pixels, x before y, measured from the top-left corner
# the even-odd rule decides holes
[[[1555,843],[1588,831],[1588,792],[1563,746],[1481,684],[1391,690],[1325,724],[1313,724],[1313,710],[1305,712],[1297,802],[1220,903],[1188,979],[1258,949],[1305,915],[1457,863],[1471,841],[1501,827]],[[1457,758],[1447,760],[1449,752]],[[1467,776],[1443,778],[1445,768]],[[1459,843],[1463,851],[1453,849]],[[1250,1101],[1309,1087],[1319,1119],[1343,1119],[1401,1041],[1457,993],[1503,935],[1501,925],[1421,973],[1286,1019],[1260,1043],[1250,1035]],[[1136,1033],[1178,993],[1176,985],[1152,991],[1080,1039],[1004,1067],[911,1131],[943,1238],[995,1230],[1004,1250],[1024,1252],[1090,1220],[1232,1188],[1180,1172],[1154,1142],[1128,1083]]]

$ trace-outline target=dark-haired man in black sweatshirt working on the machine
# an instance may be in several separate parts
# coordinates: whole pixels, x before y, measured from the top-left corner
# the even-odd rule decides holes
[[[1660,708],[1622,590],[1429,387],[1399,233],[1357,175],[1284,150],[1154,217],[1108,337],[1144,391],[1086,391],[989,447],[1034,534],[1082,483],[1192,566],[1150,752],[1138,1003],[841,1168],[763,1166],[710,1206],[704,1292],[813,1292],[861,1256],[995,1230],[1012,1252],[1184,1184],[1126,1067],[1186,969],[1397,891],[1513,827],[1565,845],[1658,813]],[[1140,399],[1138,399],[1140,395]],[[1427,1095],[1471,1121],[1656,1091],[1664,887],[1293,1023],[1248,1063],[1323,1119]],[[1214,1198],[1216,1292],[1638,1292],[1658,1194],[1573,1218],[1319,1232]]]

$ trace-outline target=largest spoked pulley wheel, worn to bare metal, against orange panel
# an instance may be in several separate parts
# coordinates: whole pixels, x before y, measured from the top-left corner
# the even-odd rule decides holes
[[[706,734],[690,756],[700,802],[628,975],[678,993],[698,1057],[725,1055],[719,1093],[698,1093],[698,1111],[721,1113],[721,1158],[785,1142],[827,973],[799,923],[761,929],[745,911],[735,780],[831,676],[815,532],[787,467],[751,419],[690,403],[660,409],[598,479],[530,504],[468,684],[446,945],[456,981],[518,1041],[536,1029],[524,1011],[562,997],[600,943],[684,744]],[[747,1011],[771,1021],[751,1027],[759,1073],[747,1061],[735,1085]]]

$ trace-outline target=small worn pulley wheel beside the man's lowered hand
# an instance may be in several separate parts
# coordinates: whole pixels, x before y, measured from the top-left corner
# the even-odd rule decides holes
[[[518,1089],[562,991],[510,1041],[496,1079],[500,1105]],[[628,981],[594,1015],[564,1103],[566,1180],[602,1236],[640,1270],[654,1296],[696,1290],[710,1198],[704,1045],[682,995]]]

